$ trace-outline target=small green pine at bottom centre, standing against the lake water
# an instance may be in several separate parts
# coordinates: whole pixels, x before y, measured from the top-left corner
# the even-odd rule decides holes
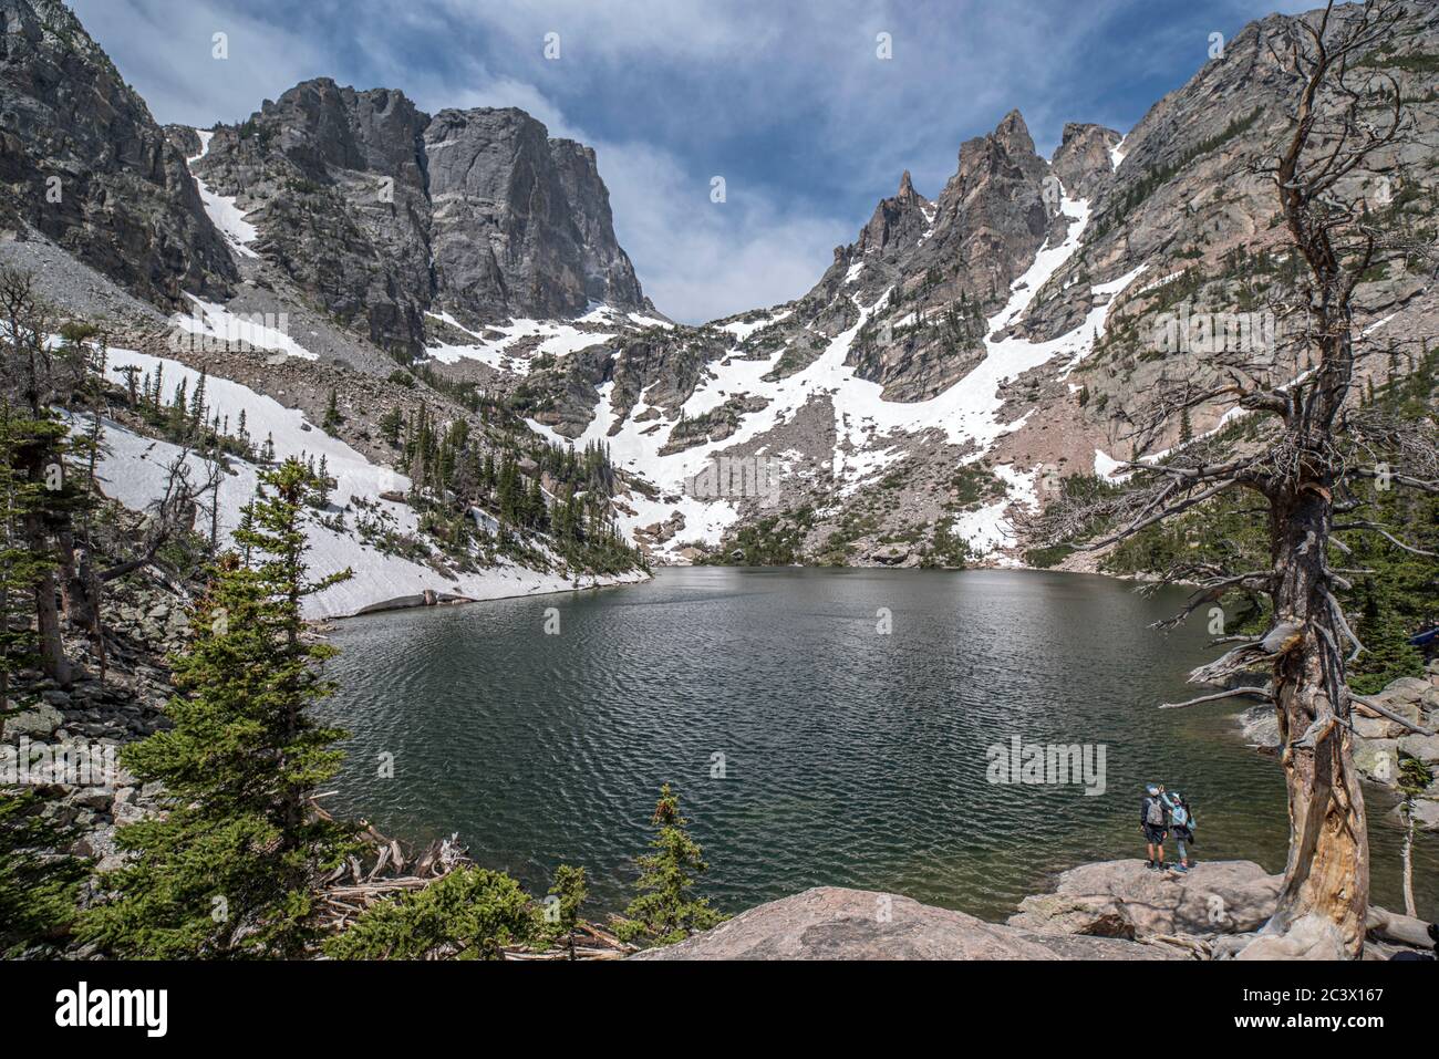
[[[655,852],[639,858],[637,896],[616,928],[622,940],[669,945],[724,922],[725,917],[711,908],[707,898],[689,894],[709,865],[704,860],[704,850],[685,830],[688,823],[679,814],[679,796],[666,783],[659,790],[650,819],[655,837],[649,847]]]

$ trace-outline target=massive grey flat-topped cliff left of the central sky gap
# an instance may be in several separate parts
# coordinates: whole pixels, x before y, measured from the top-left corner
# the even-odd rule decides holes
[[[255,250],[342,324],[416,358],[426,312],[479,328],[649,308],[594,151],[518,109],[442,111],[321,78],[219,127],[194,163]]]

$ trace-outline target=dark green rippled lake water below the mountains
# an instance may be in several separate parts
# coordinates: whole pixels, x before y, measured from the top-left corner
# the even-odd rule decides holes
[[[623,905],[666,781],[725,911],[826,883],[1002,918],[1059,869],[1143,856],[1148,780],[1190,797],[1199,858],[1279,871],[1284,780],[1240,741],[1239,706],[1154,708],[1197,694],[1183,673],[1212,656],[1202,627],[1147,629],[1181,599],[1033,571],[671,568],[355,619],[331,636],[325,712],[353,740],[327,804],[414,840],[458,832],[541,894],[583,865],[591,914]],[[990,783],[987,748],[1014,735],[1102,744],[1105,791]],[[1376,901],[1402,908],[1392,801],[1367,794]],[[1430,919],[1436,869],[1422,836]]]

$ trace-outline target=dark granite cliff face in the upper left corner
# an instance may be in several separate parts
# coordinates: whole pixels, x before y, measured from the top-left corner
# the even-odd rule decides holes
[[[236,269],[184,155],[60,0],[0,0],[0,227],[164,308]]]

